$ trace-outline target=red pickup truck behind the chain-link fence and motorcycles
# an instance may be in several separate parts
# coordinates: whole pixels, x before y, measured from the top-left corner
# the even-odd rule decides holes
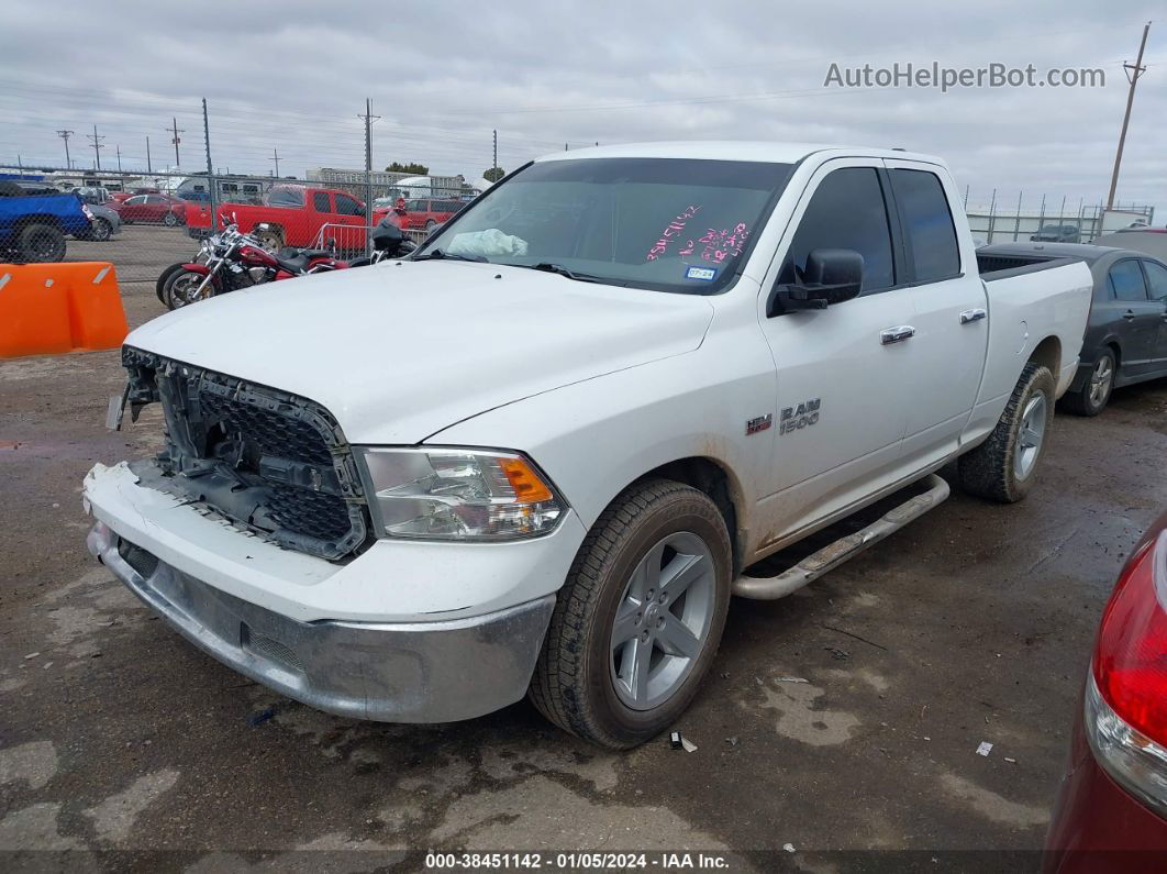
[[[217,228],[233,222],[273,252],[282,246],[312,246],[322,228],[326,245],[334,239],[342,250],[365,246],[364,203],[334,188],[272,186],[261,204],[221,203],[216,211]],[[195,238],[211,232],[209,203],[187,204],[187,228]]]

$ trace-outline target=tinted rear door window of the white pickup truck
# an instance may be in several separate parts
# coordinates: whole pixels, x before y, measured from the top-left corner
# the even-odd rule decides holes
[[[890,170],[890,176],[915,281],[935,282],[958,275],[960,249],[939,176],[907,169]]]

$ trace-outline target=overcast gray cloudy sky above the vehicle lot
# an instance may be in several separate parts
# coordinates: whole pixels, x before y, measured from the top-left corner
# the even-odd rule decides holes
[[[403,19],[396,9],[406,11]],[[902,146],[945,158],[973,203],[1106,194],[1144,22],[1161,0],[942,4],[67,2],[0,11],[0,165],[215,167],[268,174],[415,160],[477,177],[564,148],[659,139]],[[1152,25],[1118,198],[1167,219],[1167,15]],[[824,88],[832,62],[1100,68],[1105,88]]]

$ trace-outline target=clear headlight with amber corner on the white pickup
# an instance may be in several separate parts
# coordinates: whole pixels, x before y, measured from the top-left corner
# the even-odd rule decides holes
[[[380,537],[515,540],[552,531],[566,503],[518,453],[357,449]]]

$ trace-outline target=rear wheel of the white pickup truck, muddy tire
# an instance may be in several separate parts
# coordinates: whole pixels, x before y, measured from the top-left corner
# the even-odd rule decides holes
[[[1029,362],[985,442],[960,456],[960,487],[990,501],[1014,503],[1037,478],[1054,421],[1056,384],[1048,368]]]

